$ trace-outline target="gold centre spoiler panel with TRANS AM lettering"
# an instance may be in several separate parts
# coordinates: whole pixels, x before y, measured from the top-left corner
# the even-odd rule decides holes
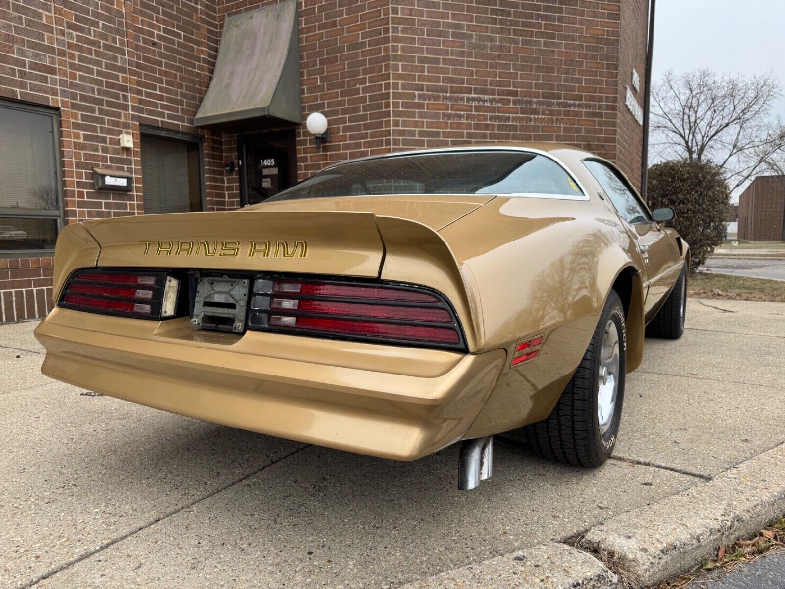
[[[233,210],[86,221],[99,266],[378,276],[373,213]]]

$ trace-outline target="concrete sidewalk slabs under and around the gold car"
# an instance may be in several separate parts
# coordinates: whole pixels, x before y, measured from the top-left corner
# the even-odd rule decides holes
[[[456,448],[392,463],[86,396],[0,327],[0,587],[398,587],[566,540],[785,441],[785,304],[690,300],[629,375],[597,470],[500,442],[455,489]]]

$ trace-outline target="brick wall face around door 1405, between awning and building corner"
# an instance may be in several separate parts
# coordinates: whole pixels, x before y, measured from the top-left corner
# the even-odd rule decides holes
[[[225,0],[218,6],[218,30],[227,14],[257,9],[276,0]],[[303,119],[321,112],[330,123],[330,143],[297,130],[298,177],[330,163],[390,152],[391,0],[299,0],[300,74]],[[226,155],[236,158],[236,136],[225,136]],[[239,172],[228,179],[228,195],[239,203]]]

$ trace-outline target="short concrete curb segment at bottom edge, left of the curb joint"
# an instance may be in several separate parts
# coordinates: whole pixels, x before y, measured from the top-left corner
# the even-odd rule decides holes
[[[591,554],[547,543],[467,565],[400,589],[617,589],[616,576]]]

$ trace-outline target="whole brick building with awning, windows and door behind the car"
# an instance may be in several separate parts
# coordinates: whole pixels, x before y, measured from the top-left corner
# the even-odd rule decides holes
[[[644,0],[0,0],[0,323],[51,307],[64,224],[233,209],[343,159],[564,141],[640,184],[647,19]]]

